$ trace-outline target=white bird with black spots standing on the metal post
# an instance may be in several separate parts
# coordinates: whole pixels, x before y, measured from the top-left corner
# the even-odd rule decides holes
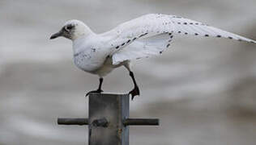
[[[253,39],[247,39],[194,20],[167,14],[146,14],[102,34],[94,33],[79,20],[70,20],[64,24],[61,31],[53,34],[50,39],[55,39],[58,36],[71,39],[75,65],[87,73],[100,77],[98,89],[89,93],[103,92],[101,89],[103,77],[114,68],[125,66],[134,83],[134,89],[130,91],[133,99],[134,96],[139,95],[139,87],[130,68],[130,60],[161,54],[169,48],[174,35],[211,36],[256,44]]]

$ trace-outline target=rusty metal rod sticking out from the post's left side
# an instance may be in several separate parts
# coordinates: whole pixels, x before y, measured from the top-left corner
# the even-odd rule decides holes
[[[87,118],[58,118],[58,125],[88,125]]]

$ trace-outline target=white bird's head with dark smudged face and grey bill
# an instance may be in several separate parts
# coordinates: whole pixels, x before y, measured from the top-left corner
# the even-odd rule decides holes
[[[67,39],[75,40],[83,35],[89,35],[92,31],[82,21],[73,19],[67,21],[62,29],[57,33],[51,35],[50,39],[55,39],[63,36]]]

